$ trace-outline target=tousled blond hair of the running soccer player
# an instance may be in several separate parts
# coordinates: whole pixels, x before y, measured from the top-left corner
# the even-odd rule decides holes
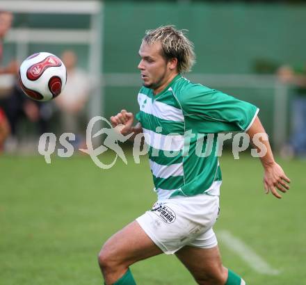
[[[147,44],[161,42],[162,56],[166,60],[177,58],[177,71],[189,72],[195,63],[193,42],[186,38],[187,30],[177,30],[175,26],[160,26],[154,30],[145,31],[143,41]]]

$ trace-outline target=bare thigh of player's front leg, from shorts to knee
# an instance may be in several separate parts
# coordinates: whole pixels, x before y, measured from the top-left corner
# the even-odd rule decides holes
[[[130,266],[162,253],[136,221],[111,236],[102,247],[102,252],[114,265],[120,266]]]

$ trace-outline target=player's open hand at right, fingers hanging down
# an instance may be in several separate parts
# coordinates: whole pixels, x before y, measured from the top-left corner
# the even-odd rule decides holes
[[[266,165],[264,167],[264,188],[266,194],[271,193],[278,199],[282,198],[282,195],[277,192],[276,188],[282,193],[286,193],[289,190],[290,179],[284,174],[284,170],[277,163]]]

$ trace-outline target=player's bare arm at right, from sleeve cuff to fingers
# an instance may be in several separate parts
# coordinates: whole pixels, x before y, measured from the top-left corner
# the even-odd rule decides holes
[[[250,136],[251,142],[256,133],[266,133],[259,117],[256,117],[255,121],[246,133]],[[276,188],[282,193],[286,193],[287,190],[289,190],[288,184],[290,183],[290,179],[286,174],[284,174],[284,170],[282,170],[280,165],[275,162],[271,145],[268,140],[261,139],[260,142],[266,146],[266,154],[260,157],[261,164],[264,167],[264,188],[266,189],[266,194],[271,191],[275,197],[280,199],[282,198],[282,195],[277,192]],[[257,146],[255,145],[255,147]],[[259,149],[259,147],[257,147],[257,149]]]

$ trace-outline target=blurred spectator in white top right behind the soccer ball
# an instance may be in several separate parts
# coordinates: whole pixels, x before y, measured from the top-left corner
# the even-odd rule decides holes
[[[65,132],[76,135],[75,147],[79,147],[86,132],[86,103],[90,94],[90,81],[86,72],[77,67],[74,51],[64,51],[61,56],[67,68],[65,89],[56,97],[56,105],[61,112],[61,127]]]

